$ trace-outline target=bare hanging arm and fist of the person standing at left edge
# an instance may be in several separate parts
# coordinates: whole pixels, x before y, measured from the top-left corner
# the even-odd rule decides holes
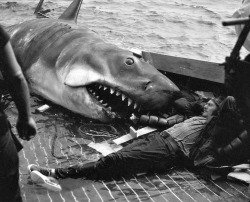
[[[36,134],[35,121],[30,112],[29,89],[9,41],[0,49],[0,62],[3,77],[18,109],[18,133],[22,139],[29,140]]]

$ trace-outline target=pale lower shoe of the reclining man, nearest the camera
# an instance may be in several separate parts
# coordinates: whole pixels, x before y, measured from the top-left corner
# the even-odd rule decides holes
[[[45,187],[52,191],[60,192],[62,187],[58,184],[57,180],[53,177],[47,177],[37,170],[31,171],[30,177],[33,183]]]

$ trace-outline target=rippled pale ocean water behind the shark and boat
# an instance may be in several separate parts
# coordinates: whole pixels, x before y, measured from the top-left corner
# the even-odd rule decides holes
[[[45,0],[43,8],[58,18],[71,2]],[[37,3],[1,0],[0,24],[35,18]],[[122,48],[222,63],[237,39],[234,27],[223,27],[222,21],[240,5],[241,0],[84,0],[78,25]]]

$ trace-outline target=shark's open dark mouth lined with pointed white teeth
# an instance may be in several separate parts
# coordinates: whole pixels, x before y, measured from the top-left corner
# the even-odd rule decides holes
[[[101,84],[91,84],[87,90],[103,106],[103,110],[111,118],[128,118],[132,114],[138,115],[142,112],[141,105],[118,89]]]

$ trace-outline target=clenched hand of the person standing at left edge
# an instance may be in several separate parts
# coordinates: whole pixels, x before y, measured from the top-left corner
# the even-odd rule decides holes
[[[18,118],[16,129],[19,137],[23,140],[30,140],[36,135],[36,123],[31,117],[25,121]]]

